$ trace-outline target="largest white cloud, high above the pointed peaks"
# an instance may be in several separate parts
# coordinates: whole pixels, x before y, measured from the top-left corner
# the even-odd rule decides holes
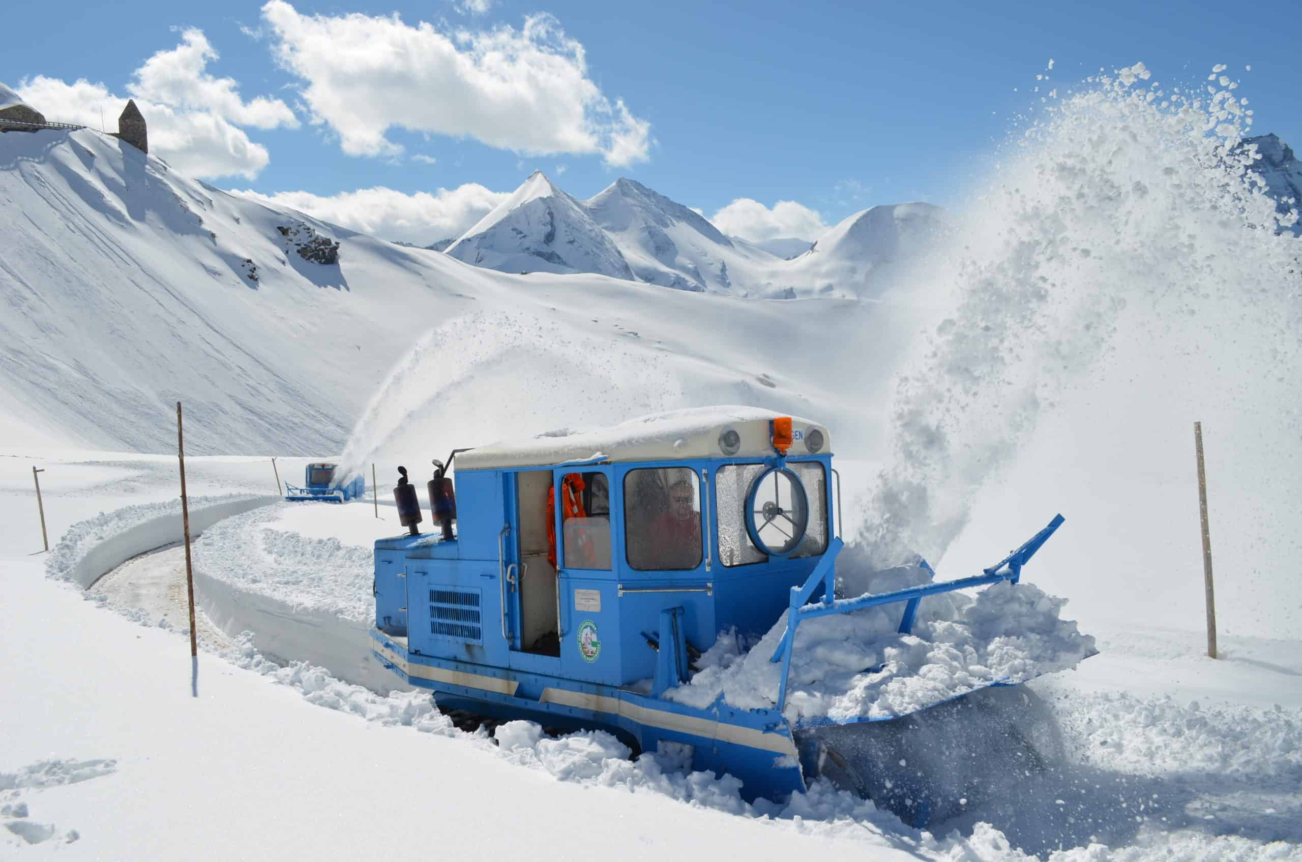
[[[556,18],[522,29],[441,33],[397,14],[305,16],[284,0],[262,8],[280,64],[303,79],[314,122],[350,155],[393,156],[391,128],[474,138],[529,156],[600,155],[644,161],[650,124],[589,77],[583,46]]]

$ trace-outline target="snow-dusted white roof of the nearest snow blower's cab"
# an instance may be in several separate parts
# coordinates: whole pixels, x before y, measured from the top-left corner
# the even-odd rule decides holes
[[[560,430],[462,452],[458,470],[501,470],[582,461],[681,461],[686,458],[763,458],[773,454],[769,422],[784,414],[760,408],[721,406],[674,410],[629,419],[608,428]],[[811,435],[811,431],[819,434]],[[737,432],[736,451],[728,431]],[[829,454],[824,426],[792,417],[788,454]],[[724,447],[728,445],[729,451]],[[811,447],[814,452],[811,452]]]

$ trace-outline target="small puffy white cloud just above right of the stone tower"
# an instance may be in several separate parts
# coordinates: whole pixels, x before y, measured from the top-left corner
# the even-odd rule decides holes
[[[138,99],[189,111],[208,111],[242,126],[298,128],[294,112],[280,99],[258,96],[243,102],[240,85],[233,78],[208,74],[208,61],[216,59],[217,52],[203,31],[190,27],[181,34],[181,44],[146,60],[126,90]]]

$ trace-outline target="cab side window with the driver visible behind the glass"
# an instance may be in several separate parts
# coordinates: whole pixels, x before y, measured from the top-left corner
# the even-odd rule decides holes
[[[686,572],[704,559],[700,480],[691,467],[644,467],[624,477],[624,531],[629,566]]]

